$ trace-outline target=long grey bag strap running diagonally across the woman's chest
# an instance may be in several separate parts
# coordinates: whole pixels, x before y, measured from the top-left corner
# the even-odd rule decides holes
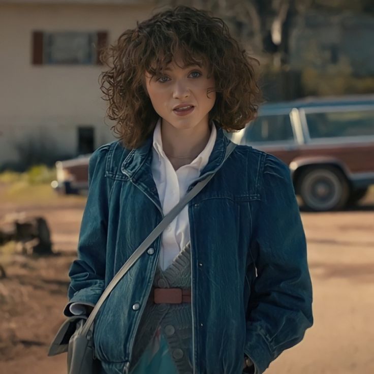
[[[230,143],[226,148],[225,159],[229,157],[230,153],[234,150],[236,144]],[[222,164],[221,164],[222,165]],[[95,319],[96,315],[100,307],[103,305],[106,298],[112,292],[114,287],[118,284],[121,278],[126,274],[130,268],[134,265],[134,263],[139,259],[139,257],[147,250],[149,245],[153,243],[155,239],[172,223],[174,218],[179,214],[179,212],[183,209],[183,207],[192,200],[209,182],[209,180],[214,176],[218,169],[214,170],[209,176],[205,179],[199,181],[194,188],[188,192],[178,204],[176,204],[173,209],[164,217],[164,219],[153,229],[153,231],[144,239],[144,241],[139,245],[139,247],[134,251],[134,253],[129,257],[129,259],[122,265],[122,267],[118,270],[118,272],[114,275],[113,279],[110,281],[102,295],[100,296],[98,302],[96,303],[95,307],[92,309],[90,315],[87,318],[86,323],[82,329],[82,335],[87,335],[89,328],[91,327],[93,320]]]

